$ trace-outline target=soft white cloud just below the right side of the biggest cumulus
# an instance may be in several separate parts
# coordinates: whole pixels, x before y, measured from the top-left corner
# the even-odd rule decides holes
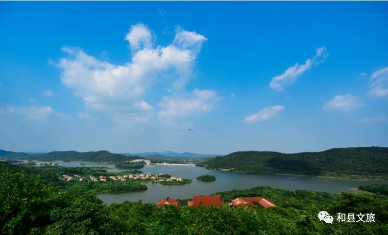
[[[158,112],[159,120],[171,123],[174,118],[186,117],[192,113],[209,112],[214,109],[214,102],[219,100],[213,90],[195,89],[191,97],[164,96],[158,106],[164,108]]]

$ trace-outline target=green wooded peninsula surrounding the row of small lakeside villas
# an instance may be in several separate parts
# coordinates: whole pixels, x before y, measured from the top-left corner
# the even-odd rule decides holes
[[[127,179],[125,181],[114,181],[109,178],[109,176],[123,176],[125,174],[131,175],[142,173],[138,170],[124,172],[106,172],[106,170],[101,169],[102,167],[27,167],[7,163],[4,165],[15,173],[26,172],[30,175],[36,175],[39,179],[45,181],[47,184],[50,184],[52,187],[56,187],[65,192],[76,191],[79,194],[97,194],[119,191],[145,190],[147,189],[147,186],[142,184],[151,181],[151,179]],[[2,172],[3,168],[0,168],[0,173]],[[74,177],[74,175],[81,175],[86,180],[80,181],[79,178],[81,177],[74,177],[76,180],[67,181],[65,180],[63,175],[69,175],[72,177]],[[98,181],[92,181],[90,180],[89,175],[93,175],[94,177],[105,176],[107,178],[107,181],[103,182],[100,180],[100,178],[98,178]]]

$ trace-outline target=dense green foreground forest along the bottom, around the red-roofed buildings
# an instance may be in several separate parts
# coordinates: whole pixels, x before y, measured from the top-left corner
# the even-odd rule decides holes
[[[268,190],[273,189],[262,194]],[[333,216],[332,224],[319,220],[321,211]],[[374,222],[339,223],[337,213],[375,217]],[[38,176],[12,173],[6,167],[0,174],[0,215],[3,234],[388,234],[388,203],[362,193],[343,192],[331,202],[311,203],[305,210],[282,206],[180,210],[141,201],[108,206],[95,196],[62,192]]]

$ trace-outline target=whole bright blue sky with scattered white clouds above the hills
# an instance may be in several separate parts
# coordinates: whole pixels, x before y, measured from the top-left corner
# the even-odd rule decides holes
[[[387,12],[386,2],[0,2],[0,149],[387,147]]]

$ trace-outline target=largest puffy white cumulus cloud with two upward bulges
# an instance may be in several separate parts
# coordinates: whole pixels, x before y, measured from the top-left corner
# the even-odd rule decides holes
[[[176,90],[191,78],[202,44],[207,40],[196,32],[178,28],[174,41],[155,46],[154,33],[147,25],[132,25],[125,39],[132,51],[132,62],[113,65],[87,55],[79,47],[63,47],[71,58],[61,58],[61,81],[76,89],[88,108],[108,112],[133,112],[143,106],[141,96],[147,88],[165,81]]]

